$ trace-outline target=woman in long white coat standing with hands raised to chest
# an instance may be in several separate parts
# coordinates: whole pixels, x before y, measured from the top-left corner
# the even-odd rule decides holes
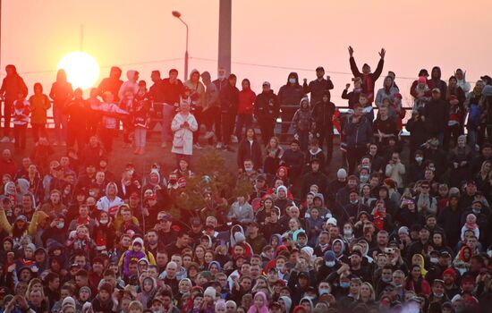
[[[193,154],[193,131],[198,130],[198,123],[190,113],[190,103],[182,100],[180,112],[174,115],[171,130],[174,131],[173,148],[171,152],[176,155],[176,163],[179,166],[180,160],[184,158],[191,164]]]

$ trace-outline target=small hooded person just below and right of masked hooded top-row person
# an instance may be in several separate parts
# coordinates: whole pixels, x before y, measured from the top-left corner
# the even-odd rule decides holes
[[[293,115],[294,138],[299,140],[301,151],[306,153],[310,143],[310,132],[313,130],[314,118],[310,111],[310,100],[308,97],[301,98],[300,108]]]

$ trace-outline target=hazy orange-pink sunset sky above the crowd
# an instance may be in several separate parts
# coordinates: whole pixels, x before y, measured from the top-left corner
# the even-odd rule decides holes
[[[148,81],[154,69],[166,75],[176,67],[182,75],[185,30],[172,10],[190,25],[190,69],[215,76],[216,61],[198,58],[216,60],[218,0],[4,0],[2,75],[4,65],[14,63],[30,90],[35,81],[49,89],[60,58],[79,49],[81,24],[84,51],[98,60],[101,78],[114,64],[123,72],[139,70]],[[386,47],[384,73],[396,72],[403,94],[411,83],[403,77],[433,65],[441,66],[445,80],[461,67],[474,81],[492,69],[492,42],[486,35],[491,12],[488,0],[233,0],[233,72],[240,80],[249,78],[256,91],[264,80],[277,90],[291,68],[307,69],[297,72],[312,79],[323,65],[340,105],[351,76],[329,71],[350,72],[347,47],[352,45],[358,63],[373,69],[377,51]],[[181,60],[163,61],[176,58]],[[382,83],[378,80],[377,87]]]

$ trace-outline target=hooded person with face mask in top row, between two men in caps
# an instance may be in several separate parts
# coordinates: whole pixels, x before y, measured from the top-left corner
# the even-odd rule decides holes
[[[287,83],[278,90],[278,102],[282,110],[282,134],[281,141],[286,139],[293,116],[301,104],[301,99],[305,97],[304,90],[299,84],[297,72],[291,72],[287,78]],[[309,107],[309,100],[308,100]]]

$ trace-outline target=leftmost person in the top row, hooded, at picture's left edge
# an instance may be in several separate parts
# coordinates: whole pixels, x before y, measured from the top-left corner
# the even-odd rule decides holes
[[[17,69],[13,64],[5,66],[5,72],[7,75],[2,81],[2,88],[0,88],[0,98],[4,99],[4,137],[1,142],[10,142],[10,121],[12,117],[13,102],[19,94],[23,97],[28,96],[28,87],[24,80],[22,80]]]

